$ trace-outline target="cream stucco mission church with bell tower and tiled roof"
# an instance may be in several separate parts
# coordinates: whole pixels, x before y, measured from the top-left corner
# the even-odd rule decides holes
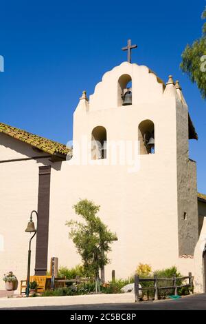
[[[129,46],[128,46],[129,47]],[[73,114],[73,146],[0,123],[0,275],[27,276],[30,212],[38,212],[31,274],[81,263],[66,221],[89,199],[116,232],[106,280],[176,265],[206,289],[206,196],[198,194],[189,141],[198,135],[181,85],[165,84],[128,61],[106,72],[93,94],[84,91]],[[87,86],[87,85],[86,85]],[[108,100],[109,98],[109,100]],[[18,125],[15,125],[18,127]],[[35,215],[33,217],[36,223]],[[0,281],[0,289],[4,289]]]

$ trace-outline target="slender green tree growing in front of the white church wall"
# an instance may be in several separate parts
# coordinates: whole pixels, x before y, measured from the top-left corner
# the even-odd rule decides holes
[[[107,253],[111,251],[111,243],[117,241],[117,236],[96,216],[99,205],[84,199],[73,208],[84,222],[71,220],[66,223],[70,227],[69,238],[76,245],[87,276],[95,276],[97,291],[100,290],[99,270],[109,263]]]

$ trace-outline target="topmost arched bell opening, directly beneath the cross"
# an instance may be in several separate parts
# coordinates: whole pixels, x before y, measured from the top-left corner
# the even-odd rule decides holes
[[[119,77],[117,84],[117,105],[132,105],[132,78],[129,74]]]

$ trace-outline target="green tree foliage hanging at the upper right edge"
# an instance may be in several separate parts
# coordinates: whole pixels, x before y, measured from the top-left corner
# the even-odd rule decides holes
[[[202,14],[206,19],[206,8]],[[206,23],[203,34],[192,45],[186,46],[182,53],[181,70],[185,72],[193,83],[196,83],[203,99],[206,99]]]

